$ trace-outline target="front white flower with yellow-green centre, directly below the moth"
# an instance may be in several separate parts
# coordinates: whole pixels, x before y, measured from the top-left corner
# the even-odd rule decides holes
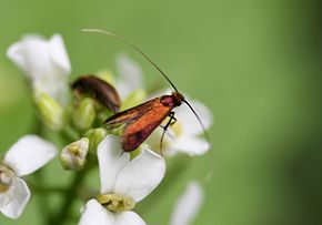
[[[163,157],[147,147],[132,161],[122,153],[120,139],[107,136],[98,147],[101,191],[90,200],[79,225],[144,225],[131,208],[149,195],[165,173]]]

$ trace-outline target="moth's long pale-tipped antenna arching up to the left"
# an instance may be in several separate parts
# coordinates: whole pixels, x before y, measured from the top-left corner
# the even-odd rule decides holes
[[[175,88],[175,85],[168,78],[168,75],[161,70],[161,68],[159,65],[157,65],[157,63],[150,57],[148,57],[142,50],[140,50],[138,47],[135,47],[131,42],[127,41],[124,38],[117,35],[115,33],[112,33],[110,31],[102,30],[102,29],[82,29],[82,31],[90,32],[90,33],[102,33],[102,34],[109,35],[109,37],[111,37],[120,42],[123,42],[125,45],[132,48],[133,50],[139,52],[145,60],[148,60],[163,75],[163,78],[170,83],[170,85],[174,89],[174,91],[178,92],[178,89]]]

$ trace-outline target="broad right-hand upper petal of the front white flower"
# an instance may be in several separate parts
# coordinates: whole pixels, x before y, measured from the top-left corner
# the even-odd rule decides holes
[[[140,202],[159,185],[164,173],[164,158],[151,150],[143,149],[140,155],[121,170],[114,192]]]

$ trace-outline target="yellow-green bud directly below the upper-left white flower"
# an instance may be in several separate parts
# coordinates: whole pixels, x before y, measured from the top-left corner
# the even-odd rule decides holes
[[[59,131],[63,125],[63,110],[60,104],[47,93],[36,96],[42,122],[51,130]]]

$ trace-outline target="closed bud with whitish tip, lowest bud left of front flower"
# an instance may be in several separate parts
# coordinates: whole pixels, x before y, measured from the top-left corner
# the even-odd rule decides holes
[[[88,137],[82,137],[63,147],[60,162],[64,170],[80,170],[83,167],[89,151],[89,142]]]

